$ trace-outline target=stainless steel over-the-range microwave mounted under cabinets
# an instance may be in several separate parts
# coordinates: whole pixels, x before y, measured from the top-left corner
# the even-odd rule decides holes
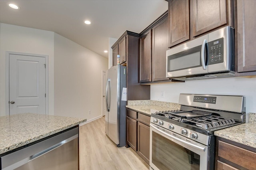
[[[227,26],[166,51],[166,77],[234,76],[234,28]]]

